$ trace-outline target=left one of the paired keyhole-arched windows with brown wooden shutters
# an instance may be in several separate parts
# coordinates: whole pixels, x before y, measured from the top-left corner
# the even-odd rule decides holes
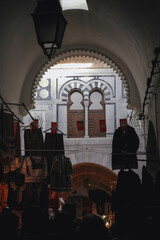
[[[85,113],[84,99],[80,91],[71,91],[68,95],[67,104],[67,128],[68,138],[84,137]]]

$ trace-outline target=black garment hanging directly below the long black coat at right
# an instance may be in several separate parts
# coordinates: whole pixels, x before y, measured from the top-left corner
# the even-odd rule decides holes
[[[139,175],[132,169],[119,171],[116,189],[111,195],[111,209],[115,212],[115,220],[122,227],[127,227],[131,222],[132,226],[135,222],[139,226],[142,221],[142,185]]]

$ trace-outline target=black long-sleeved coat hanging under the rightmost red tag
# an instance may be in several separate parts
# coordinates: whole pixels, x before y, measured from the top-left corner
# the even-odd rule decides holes
[[[137,150],[139,138],[135,129],[127,126],[115,130],[112,141],[112,169],[138,168]]]

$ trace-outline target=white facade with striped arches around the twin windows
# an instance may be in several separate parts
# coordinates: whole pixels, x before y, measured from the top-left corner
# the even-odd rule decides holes
[[[107,132],[106,137],[103,138],[90,138],[88,136],[89,93],[93,88],[100,88],[104,94]],[[84,138],[67,138],[67,101],[71,89],[79,89],[84,95]],[[89,69],[50,67],[42,75],[35,93],[35,108],[30,111],[31,115],[39,119],[42,131],[50,129],[51,122],[58,123],[58,129],[64,133],[65,155],[70,157],[72,164],[93,162],[112,169],[113,133],[119,127],[121,118],[127,118],[128,124],[135,128],[140,139],[138,159],[145,159],[145,142],[141,121],[137,120],[132,110],[127,109],[126,89],[121,77],[113,69],[109,67]],[[29,115],[23,118],[25,126],[29,125],[31,121]],[[23,146],[22,141],[22,149],[24,149]],[[139,167],[135,170],[140,177],[143,165],[145,162],[138,161]],[[114,170],[116,173],[118,171]]]

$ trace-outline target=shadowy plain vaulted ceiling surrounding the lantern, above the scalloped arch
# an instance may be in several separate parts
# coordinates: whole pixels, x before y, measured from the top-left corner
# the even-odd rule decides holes
[[[66,10],[61,54],[91,49],[111,58],[125,73],[132,94],[143,102],[146,79],[160,43],[158,0],[87,0],[89,11]],[[37,43],[31,13],[37,0],[1,2],[0,94],[7,102],[31,104],[32,84],[48,61]],[[132,84],[137,92],[132,90]]]

